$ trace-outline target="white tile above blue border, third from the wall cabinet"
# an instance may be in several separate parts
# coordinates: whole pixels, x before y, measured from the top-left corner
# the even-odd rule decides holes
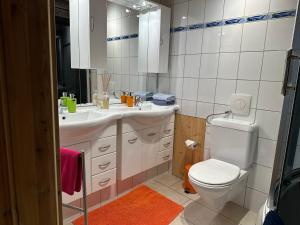
[[[206,0],[205,21],[221,20],[223,18],[224,0]]]

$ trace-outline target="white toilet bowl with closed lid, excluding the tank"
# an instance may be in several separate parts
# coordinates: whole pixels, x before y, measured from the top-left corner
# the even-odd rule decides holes
[[[248,172],[238,166],[209,159],[191,167],[189,180],[205,205],[220,211],[243,190],[247,175]]]

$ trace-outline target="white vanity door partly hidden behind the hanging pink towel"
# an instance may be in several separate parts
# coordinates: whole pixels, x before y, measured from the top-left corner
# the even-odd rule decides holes
[[[83,142],[80,144],[66,146],[66,148],[77,150],[77,151],[84,151],[85,153],[85,173],[86,173],[86,187],[87,193],[91,193],[91,150],[90,150],[90,143]],[[70,203],[79,198],[82,198],[82,188],[80,192],[75,192],[74,195],[68,195],[66,193],[62,193],[62,201],[63,203]]]

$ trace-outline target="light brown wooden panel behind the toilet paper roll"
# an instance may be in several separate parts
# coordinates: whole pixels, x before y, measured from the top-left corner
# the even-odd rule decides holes
[[[186,163],[194,164],[203,160],[205,127],[205,119],[176,114],[173,156],[175,176],[183,177]],[[187,139],[198,141],[199,144],[195,150],[190,150],[185,146],[184,142]]]

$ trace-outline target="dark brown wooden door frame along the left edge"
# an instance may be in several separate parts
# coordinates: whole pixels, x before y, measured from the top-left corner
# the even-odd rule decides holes
[[[0,224],[62,224],[54,0],[0,2]]]

